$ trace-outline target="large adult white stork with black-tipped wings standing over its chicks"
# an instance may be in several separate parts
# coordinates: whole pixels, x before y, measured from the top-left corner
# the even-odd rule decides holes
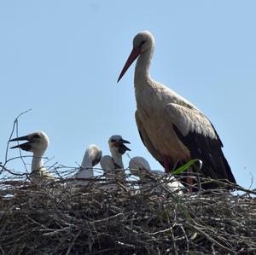
[[[236,183],[222,152],[223,144],[209,119],[182,96],[150,77],[153,53],[153,35],[147,31],[139,32],[118,79],[119,82],[138,57],[134,77],[135,115],[144,145],[166,172],[189,159],[201,159],[203,177]],[[193,166],[192,171],[197,171],[195,168]],[[215,187],[218,185],[214,183],[202,185],[202,188]]]

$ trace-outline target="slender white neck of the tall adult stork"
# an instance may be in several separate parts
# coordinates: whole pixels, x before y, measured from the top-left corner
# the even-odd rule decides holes
[[[152,49],[145,51],[138,57],[134,75],[134,84],[136,87],[143,86],[145,84],[144,81],[150,79],[149,67],[153,53],[154,48],[152,47]]]

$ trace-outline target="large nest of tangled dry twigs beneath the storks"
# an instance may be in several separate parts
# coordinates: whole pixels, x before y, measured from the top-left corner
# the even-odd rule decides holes
[[[155,180],[156,185],[159,180]],[[255,191],[174,194],[1,180],[3,254],[255,254]],[[131,181],[130,187],[137,187]],[[162,185],[162,181],[161,181]],[[235,187],[234,187],[235,188]],[[237,188],[237,187],[236,187]]]

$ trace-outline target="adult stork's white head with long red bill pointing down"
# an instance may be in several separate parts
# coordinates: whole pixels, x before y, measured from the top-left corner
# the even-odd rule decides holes
[[[125,72],[131,66],[131,64],[137,59],[137,57],[144,52],[151,50],[154,48],[154,36],[151,32],[143,31],[137,33],[135,38],[133,38],[133,49],[131,50],[131,54],[129,55],[125,67],[119,75],[119,80],[124,76]]]

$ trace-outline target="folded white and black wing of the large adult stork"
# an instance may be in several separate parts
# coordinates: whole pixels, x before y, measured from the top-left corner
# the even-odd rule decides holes
[[[204,177],[228,179],[236,183],[230,165],[222,152],[222,142],[211,122],[199,110],[170,103],[165,109],[165,121],[177,138],[189,149],[191,159],[201,159]]]

